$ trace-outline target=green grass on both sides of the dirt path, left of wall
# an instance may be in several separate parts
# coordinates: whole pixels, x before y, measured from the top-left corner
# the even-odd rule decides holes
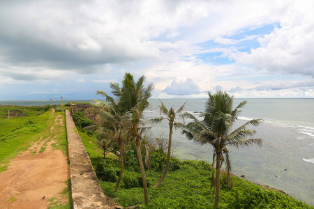
[[[7,113],[18,114],[8,118]],[[12,116],[10,114],[10,116]],[[46,111],[43,107],[6,107],[0,106],[0,172],[6,171],[10,162],[21,152],[27,150],[32,144],[39,144],[40,139],[47,139],[50,136],[50,127],[54,120],[61,115],[64,125],[55,125],[54,136],[57,143],[52,144],[53,148],[63,150],[67,156],[68,141],[66,139],[65,115],[61,112],[52,114],[51,110]],[[50,137],[51,138],[51,137]],[[39,153],[45,151],[47,139],[41,146]],[[31,150],[32,151],[32,150]],[[36,150],[31,152],[36,154]],[[57,198],[50,199],[49,208],[73,208],[70,196],[70,180],[65,182],[68,185],[62,192],[69,198],[69,203],[62,205]]]

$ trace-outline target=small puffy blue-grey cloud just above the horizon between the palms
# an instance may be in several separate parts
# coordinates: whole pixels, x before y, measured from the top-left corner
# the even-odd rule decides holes
[[[187,78],[185,81],[179,82],[174,79],[164,91],[168,95],[194,95],[200,93],[200,88],[193,82],[193,79]]]

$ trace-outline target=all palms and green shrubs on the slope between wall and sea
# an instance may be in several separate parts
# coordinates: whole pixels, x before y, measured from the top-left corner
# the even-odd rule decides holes
[[[213,95],[209,93],[203,120],[184,114],[191,121],[188,125],[174,123],[176,112],[172,108],[168,111],[161,102],[160,111],[167,114],[170,121],[168,154],[172,127],[175,125],[181,127],[188,139],[213,146],[213,164],[216,160],[216,169],[213,169],[207,162],[181,162],[169,157],[159,139],[147,136],[149,127],[145,127],[142,120],[152,85],[144,86],[143,76],[135,81],[132,75],[126,73],[122,86],[112,83],[110,88],[115,98],[97,91],[107,101],[97,102],[103,107],[100,112],[103,116],[102,125],[84,123],[84,114],[73,115],[105,194],[114,197],[122,206],[144,203],[144,208],[218,208],[219,201],[219,208],[310,208],[284,194],[269,192],[246,180],[230,176],[226,146],[260,145],[262,142],[261,139],[245,138],[255,133],[254,130],[247,130],[246,126],[258,125],[260,119],[248,121],[236,130],[231,130],[241,112],[239,108],[244,107],[246,102],[232,109],[233,97],[222,92]],[[108,150],[111,155],[105,154]],[[220,172],[224,161],[227,171]],[[140,187],[144,189],[144,196]]]

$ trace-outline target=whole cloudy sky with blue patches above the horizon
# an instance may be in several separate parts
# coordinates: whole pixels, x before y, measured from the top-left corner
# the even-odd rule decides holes
[[[314,98],[313,0],[0,0],[0,100]]]

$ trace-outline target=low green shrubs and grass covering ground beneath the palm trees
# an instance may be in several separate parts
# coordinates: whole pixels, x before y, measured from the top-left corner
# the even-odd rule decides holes
[[[144,207],[144,193],[140,187],[142,178],[138,165],[125,164],[124,177],[117,192],[112,192],[115,180],[119,175],[119,160],[117,156],[108,155],[103,160],[101,150],[96,146],[92,137],[80,132],[80,137],[91,157],[91,162],[96,170],[103,164],[107,172],[107,180],[100,179],[100,185],[108,198],[114,198],[119,205],[127,207],[142,205]],[[113,157],[114,156],[114,157]],[[151,164],[158,164],[158,155]],[[165,155],[161,157],[165,159]],[[157,160],[157,162],[156,162]],[[171,167],[171,162],[170,162]],[[144,208],[214,208],[214,199],[210,189],[212,167],[207,162],[186,160],[179,162],[176,169],[168,171],[163,184],[153,188],[163,172],[162,169],[152,169],[147,173],[149,185],[149,207]],[[111,176],[112,178],[108,178]],[[101,178],[101,176],[98,176]],[[220,176],[220,201],[219,208],[313,208],[300,201],[279,192],[267,191],[247,180],[232,176],[231,187],[227,189],[227,175]]]

